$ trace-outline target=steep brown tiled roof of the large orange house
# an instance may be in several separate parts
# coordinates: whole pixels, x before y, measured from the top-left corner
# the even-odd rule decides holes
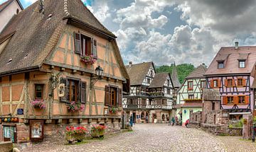
[[[44,0],[44,6],[44,16],[38,13],[38,1],[36,1],[15,15],[2,31],[0,40],[4,40],[11,33],[15,34],[0,54],[0,75],[38,69],[57,44],[68,23],[65,18],[77,18],[97,31],[113,36],[80,0]],[[48,18],[50,14],[53,16]],[[119,50],[117,56],[121,57],[118,54]],[[119,63],[123,66],[124,74],[127,74],[122,59]],[[128,74],[126,77],[129,78]]]

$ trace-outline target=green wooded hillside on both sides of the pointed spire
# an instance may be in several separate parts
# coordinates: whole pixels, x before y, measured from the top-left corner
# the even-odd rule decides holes
[[[193,64],[178,64],[176,67],[180,83],[195,69]],[[172,69],[174,69],[174,64],[171,64],[171,66],[159,66],[156,68],[156,72],[169,72],[171,74]]]

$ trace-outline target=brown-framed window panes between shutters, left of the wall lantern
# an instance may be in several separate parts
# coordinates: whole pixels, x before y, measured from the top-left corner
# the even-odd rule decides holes
[[[73,80],[73,79],[68,79],[67,83],[67,100],[72,103],[72,102],[78,102],[78,83],[79,81]]]

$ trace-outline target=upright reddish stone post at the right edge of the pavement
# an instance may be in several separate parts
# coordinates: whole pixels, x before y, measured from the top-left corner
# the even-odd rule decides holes
[[[252,115],[242,115],[242,139],[252,138]]]

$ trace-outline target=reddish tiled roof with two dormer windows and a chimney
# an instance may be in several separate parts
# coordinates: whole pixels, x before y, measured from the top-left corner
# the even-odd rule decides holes
[[[239,68],[238,59],[246,59],[245,68]],[[224,68],[218,69],[218,60],[223,59]],[[207,75],[217,74],[250,74],[256,62],[256,46],[221,47],[215,58],[211,62]]]

